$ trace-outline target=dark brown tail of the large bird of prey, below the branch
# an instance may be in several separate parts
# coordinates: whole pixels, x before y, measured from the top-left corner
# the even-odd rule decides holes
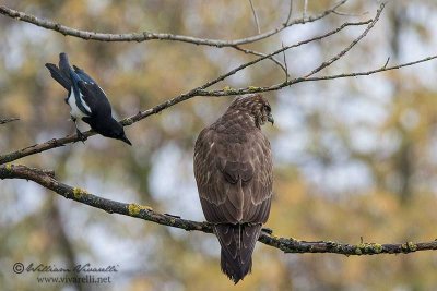
[[[222,271],[235,283],[251,271],[252,253],[261,225],[216,225],[214,233],[222,246]]]

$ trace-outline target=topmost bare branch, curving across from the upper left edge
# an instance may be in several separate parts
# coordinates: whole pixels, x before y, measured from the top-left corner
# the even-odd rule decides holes
[[[0,14],[7,15],[9,17],[27,22],[31,24],[34,24],[36,26],[40,26],[43,28],[51,29],[58,33],[61,33],[66,36],[73,36],[73,37],[79,37],[82,39],[93,39],[93,40],[99,40],[99,41],[147,41],[147,40],[174,40],[174,41],[182,41],[182,43],[189,43],[189,44],[194,44],[194,45],[202,45],[202,46],[213,46],[213,47],[234,47],[234,46],[239,46],[244,44],[251,44],[264,38],[268,38],[272,35],[275,35],[283,29],[296,25],[296,24],[305,24],[309,22],[315,22],[318,20],[323,19],[324,16],[333,13],[335,9],[344,4],[347,0],[342,0],[331,9],[328,9],[323,12],[321,12],[318,15],[306,17],[306,19],[297,19],[292,22],[287,22],[283,24],[280,27],[276,27],[274,29],[271,29],[267,33],[246,37],[246,38],[239,38],[239,39],[234,39],[234,40],[222,40],[222,39],[208,39],[208,38],[199,38],[199,37],[192,37],[192,36],[185,36],[185,35],[173,35],[173,34],[162,34],[162,33],[149,33],[149,32],[142,32],[142,33],[128,33],[128,34],[106,34],[106,33],[96,33],[96,32],[90,32],[90,31],[80,31],[75,28],[71,28],[68,26],[64,26],[60,23],[56,23],[49,20],[45,19],[38,19],[34,15],[26,14],[24,12],[17,11],[10,9],[8,7],[0,7]]]

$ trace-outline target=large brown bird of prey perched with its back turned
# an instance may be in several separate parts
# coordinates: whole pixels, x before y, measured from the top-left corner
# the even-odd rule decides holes
[[[274,122],[261,95],[237,97],[203,129],[194,147],[194,175],[203,214],[222,246],[222,271],[235,283],[251,271],[255,243],[269,218],[272,154],[261,132]]]

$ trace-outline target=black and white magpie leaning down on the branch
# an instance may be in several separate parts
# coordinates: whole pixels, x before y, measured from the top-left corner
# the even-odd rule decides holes
[[[68,90],[66,104],[70,106],[71,120],[74,122],[79,138],[86,140],[79,130],[76,120],[81,119],[97,133],[106,137],[120,140],[129,145],[123,126],[113,118],[113,110],[105,92],[82,69],[70,66],[67,53],[59,54],[59,68],[52,63],[46,63],[50,75]]]

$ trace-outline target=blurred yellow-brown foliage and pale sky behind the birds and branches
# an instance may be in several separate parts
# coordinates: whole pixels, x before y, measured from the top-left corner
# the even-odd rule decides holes
[[[333,1],[308,1],[317,13]],[[286,17],[288,1],[253,0],[262,32]],[[162,32],[235,39],[257,33],[248,1],[5,0],[25,11],[85,31]],[[293,17],[304,1],[294,1]],[[376,1],[350,1],[331,15],[248,45],[264,52],[374,15]],[[363,12],[368,12],[363,14]],[[435,54],[437,4],[397,0],[359,46],[326,74],[376,69]],[[231,48],[175,41],[85,41],[0,17],[0,153],[74,132],[46,62],[68,52],[108,94],[121,119],[197,87],[253,59]],[[363,27],[286,52],[299,76],[342,50]],[[282,58],[282,57],[281,57]],[[263,61],[216,87],[262,86],[284,78]],[[265,96],[274,126],[265,126],[275,159],[274,201],[267,227],[276,235],[350,243],[427,241],[436,238],[436,62],[388,73],[294,85]],[[106,198],[203,220],[192,174],[198,133],[232,97],[197,97],[127,128],[133,143],[93,136],[20,160],[52,169],[60,181]],[[83,125],[84,129],[87,126]],[[220,271],[213,235],[185,232],[109,215],[67,201],[33,183],[0,181],[0,286],[35,290],[15,262],[59,267],[117,265],[109,286],[37,286],[45,290],[435,290],[437,256],[344,257],[283,254],[258,244],[252,275],[233,287]]]

